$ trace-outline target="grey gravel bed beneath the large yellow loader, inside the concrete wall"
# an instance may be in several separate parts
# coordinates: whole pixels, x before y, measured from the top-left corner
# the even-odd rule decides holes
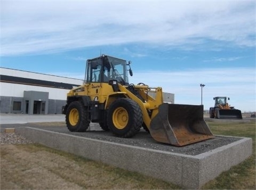
[[[103,131],[99,126],[97,128],[96,125],[91,125],[96,130],[87,131],[85,133],[75,133],[70,132],[65,125],[61,126],[38,126],[34,125],[34,123],[27,123],[23,125],[2,125],[2,127],[33,127],[38,129],[44,129],[49,131],[54,131],[57,133],[74,135],[74,136],[81,136],[86,138],[98,139],[101,141],[106,142],[113,142],[118,144],[124,145],[131,145],[131,146],[138,146],[142,148],[150,148],[157,151],[166,151],[171,153],[179,153],[179,154],[186,154],[186,155],[198,155],[205,152],[212,151],[216,148],[228,145],[230,143],[234,143],[239,141],[241,138],[239,137],[230,137],[230,136],[214,136],[212,139],[208,139],[206,141],[176,147],[169,144],[163,144],[156,142],[149,133],[145,130],[141,129],[141,131],[132,138],[119,138],[113,135],[110,131]],[[93,129],[92,128],[92,129]],[[2,144],[2,137],[1,137],[1,144]]]

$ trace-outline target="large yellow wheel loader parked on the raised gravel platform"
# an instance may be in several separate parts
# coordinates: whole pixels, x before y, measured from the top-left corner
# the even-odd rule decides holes
[[[94,122],[123,138],[143,127],[155,141],[174,146],[213,138],[202,105],[164,103],[161,87],[129,84],[130,64],[108,55],[86,61],[84,85],[68,92],[62,109],[70,131],[84,132]]]

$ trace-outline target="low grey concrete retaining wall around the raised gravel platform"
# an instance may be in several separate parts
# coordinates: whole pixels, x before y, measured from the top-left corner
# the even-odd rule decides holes
[[[187,189],[198,189],[222,171],[252,154],[252,139],[241,140],[199,155],[185,155],[123,145],[49,130],[23,127],[15,133],[36,143],[163,179]]]

